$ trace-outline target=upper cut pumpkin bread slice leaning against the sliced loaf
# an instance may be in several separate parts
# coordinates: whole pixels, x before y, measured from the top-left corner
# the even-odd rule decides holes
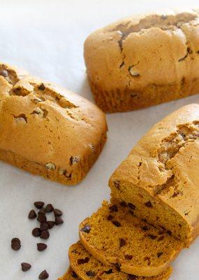
[[[133,204],[103,202],[80,224],[84,248],[105,265],[138,276],[161,274],[182,248],[182,242],[133,214]]]

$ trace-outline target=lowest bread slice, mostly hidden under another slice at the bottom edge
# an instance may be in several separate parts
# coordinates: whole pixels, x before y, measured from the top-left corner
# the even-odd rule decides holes
[[[118,267],[103,265],[96,260],[86,249],[78,242],[69,248],[69,259],[71,267],[82,280],[167,280],[172,272],[171,267],[162,274],[152,277],[135,276],[119,271]],[[68,278],[66,278],[68,279]],[[63,280],[66,280],[63,279]]]

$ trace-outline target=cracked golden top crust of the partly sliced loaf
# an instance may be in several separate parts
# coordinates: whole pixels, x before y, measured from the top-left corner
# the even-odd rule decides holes
[[[199,105],[190,104],[154,125],[110,178],[147,190],[189,225],[199,217]]]

